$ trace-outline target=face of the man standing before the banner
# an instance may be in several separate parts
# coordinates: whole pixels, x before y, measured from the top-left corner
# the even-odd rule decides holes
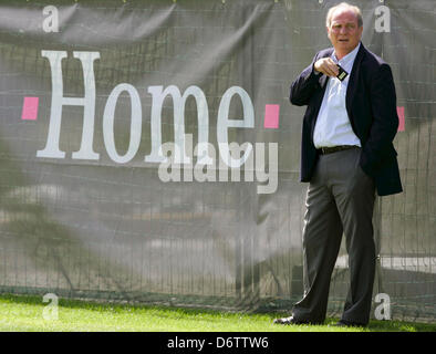
[[[340,55],[346,55],[356,48],[361,41],[362,31],[363,27],[357,25],[357,17],[349,9],[336,10],[328,28],[329,39]]]

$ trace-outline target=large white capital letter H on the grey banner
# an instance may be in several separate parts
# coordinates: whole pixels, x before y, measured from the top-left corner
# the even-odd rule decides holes
[[[50,125],[45,148],[37,152],[37,157],[64,158],[65,153],[59,148],[61,134],[62,107],[64,105],[83,106],[82,143],[79,152],[73,153],[74,159],[98,159],[93,150],[94,115],[95,115],[95,79],[94,61],[98,52],[73,52],[73,56],[82,62],[84,79],[84,97],[65,97],[63,95],[62,60],[68,56],[65,51],[41,51],[41,55],[50,62],[52,74],[52,102]]]

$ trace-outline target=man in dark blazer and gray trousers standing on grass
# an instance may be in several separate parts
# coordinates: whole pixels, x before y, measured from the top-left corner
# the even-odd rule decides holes
[[[291,85],[307,105],[301,181],[309,181],[303,229],[304,295],[279,324],[322,323],[342,233],[351,284],[338,325],[366,325],[375,273],[375,195],[402,191],[393,139],[398,127],[391,67],[361,43],[359,8],[329,10],[333,48],[320,51]],[[338,66],[338,64],[340,66]]]

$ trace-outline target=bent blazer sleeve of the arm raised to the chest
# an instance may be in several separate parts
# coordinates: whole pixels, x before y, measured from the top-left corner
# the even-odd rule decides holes
[[[319,87],[319,79],[322,74],[315,73],[313,67],[318,58],[319,53],[316,53],[312,63],[301,72],[294,82],[292,82],[289,98],[293,105],[308,105],[313,93]]]

